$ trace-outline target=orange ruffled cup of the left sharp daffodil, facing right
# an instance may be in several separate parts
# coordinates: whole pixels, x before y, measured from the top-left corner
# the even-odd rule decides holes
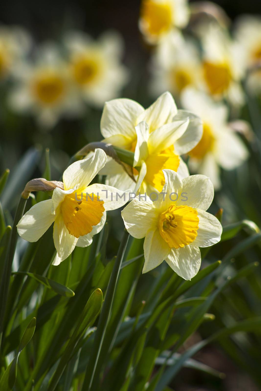
[[[99,201],[95,195],[92,198],[76,200],[75,193],[67,194],[61,204],[63,221],[69,233],[76,238],[87,235],[92,231],[92,227],[99,224],[104,212],[104,202]],[[81,194],[77,193],[77,199],[81,199]]]

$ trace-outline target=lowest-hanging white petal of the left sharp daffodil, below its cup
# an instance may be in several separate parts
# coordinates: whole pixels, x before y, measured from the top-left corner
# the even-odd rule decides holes
[[[58,253],[58,257],[61,258],[61,262],[72,253],[78,240],[78,238],[70,235],[68,232],[61,213],[59,213],[55,219],[53,237],[54,246]]]

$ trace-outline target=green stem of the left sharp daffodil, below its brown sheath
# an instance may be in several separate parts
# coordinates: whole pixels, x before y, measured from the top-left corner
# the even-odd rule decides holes
[[[0,344],[2,343],[7,295],[8,295],[9,282],[10,282],[11,271],[12,271],[12,264],[13,264],[13,259],[14,259],[14,252],[16,249],[17,236],[18,236],[16,225],[18,224],[21,217],[23,216],[26,201],[27,201],[27,199],[24,199],[22,197],[20,198],[20,201],[19,201],[19,204],[18,204],[18,207],[16,210],[16,214],[14,216],[14,224],[13,224],[13,230],[12,230],[11,239],[10,239],[10,243],[9,243],[9,251],[8,251],[7,257],[5,259],[4,273],[2,276],[2,284],[1,284],[1,295],[0,295]]]

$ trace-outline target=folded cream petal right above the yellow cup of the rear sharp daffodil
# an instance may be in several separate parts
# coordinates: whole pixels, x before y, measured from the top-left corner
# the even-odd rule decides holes
[[[153,131],[148,139],[149,153],[159,153],[173,145],[184,134],[188,124],[189,119],[187,118],[171,122]]]

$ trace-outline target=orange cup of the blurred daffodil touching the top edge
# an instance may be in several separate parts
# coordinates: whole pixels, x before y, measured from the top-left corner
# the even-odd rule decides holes
[[[171,4],[167,1],[163,3],[144,0],[141,7],[141,18],[148,34],[159,36],[171,28]]]

